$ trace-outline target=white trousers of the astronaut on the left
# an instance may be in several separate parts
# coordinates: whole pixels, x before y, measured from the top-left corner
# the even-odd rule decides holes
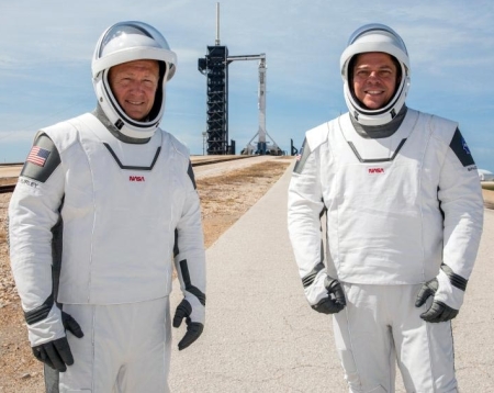
[[[59,392],[169,392],[169,297],[115,305],[64,305],[85,333],[68,335],[74,364]]]

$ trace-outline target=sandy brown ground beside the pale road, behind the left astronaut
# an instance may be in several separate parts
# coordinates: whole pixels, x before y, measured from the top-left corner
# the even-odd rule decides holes
[[[209,247],[281,177],[291,157],[259,157],[194,169]],[[200,169],[201,168],[201,169]],[[0,393],[44,392],[43,368],[32,356],[5,242],[10,193],[0,194]]]

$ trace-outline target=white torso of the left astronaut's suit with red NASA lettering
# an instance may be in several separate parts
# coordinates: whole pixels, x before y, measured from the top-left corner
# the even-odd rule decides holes
[[[134,145],[90,114],[79,121],[86,165],[81,177],[67,176],[59,299],[112,304],[165,296],[187,168],[160,130]]]

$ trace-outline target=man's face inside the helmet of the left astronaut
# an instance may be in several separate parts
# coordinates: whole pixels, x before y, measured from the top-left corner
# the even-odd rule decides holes
[[[128,117],[145,119],[155,103],[159,81],[156,60],[135,60],[110,68],[110,88]]]

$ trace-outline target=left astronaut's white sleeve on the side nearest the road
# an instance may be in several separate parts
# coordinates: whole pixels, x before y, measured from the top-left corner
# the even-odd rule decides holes
[[[176,229],[175,266],[183,296],[195,303],[191,304],[194,313],[193,321],[203,323],[206,284],[204,236],[201,205],[190,162],[187,173],[189,178],[188,192]]]

